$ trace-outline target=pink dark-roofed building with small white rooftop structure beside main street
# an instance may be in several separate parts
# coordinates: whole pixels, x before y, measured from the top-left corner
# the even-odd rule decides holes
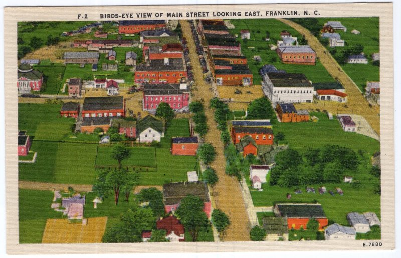
[[[143,110],[156,110],[161,102],[166,102],[174,110],[189,105],[189,93],[185,80],[180,84],[144,84]]]

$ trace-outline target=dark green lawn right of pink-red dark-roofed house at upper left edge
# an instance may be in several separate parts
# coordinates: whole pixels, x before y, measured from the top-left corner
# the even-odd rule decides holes
[[[60,65],[51,65],[44,66],[41,65],[35,67],[36,70],[43,72],[44,83],[41,88],[41,93],[43,94],[58,94],[60,90],[62,90],[63,86],[63,75],[66,69],[65,66]]]

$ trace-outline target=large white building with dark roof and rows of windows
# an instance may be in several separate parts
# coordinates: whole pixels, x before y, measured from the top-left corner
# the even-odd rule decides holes
[[[316,94],[312,83],[298,73],[265,73],[262,90],[272,103],[312,103]]]

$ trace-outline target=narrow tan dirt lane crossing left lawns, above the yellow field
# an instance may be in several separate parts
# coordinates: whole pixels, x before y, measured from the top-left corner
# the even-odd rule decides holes
[[[30,182],[30,181],[19,181],[19,189],[27,190],[41,190],[41,191],[53,191],[53,190],[64,190],[69,186],[73,187],[76,191],[92,191],[92,185],[90,184],[63,184],[63,183],[45,183],[45,182]],[[140,185],[134,190],[134,193],[139,193],[142,189],[155,187],[159,191],[163,190],[161,185]]]

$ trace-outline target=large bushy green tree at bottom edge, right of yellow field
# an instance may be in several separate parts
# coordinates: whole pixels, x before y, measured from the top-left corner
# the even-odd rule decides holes
[[[106,230],[103,235],[105,243],[142,242],[142,231],[153,226],[155,217],[148,208],[128,209],[120,221]]]

